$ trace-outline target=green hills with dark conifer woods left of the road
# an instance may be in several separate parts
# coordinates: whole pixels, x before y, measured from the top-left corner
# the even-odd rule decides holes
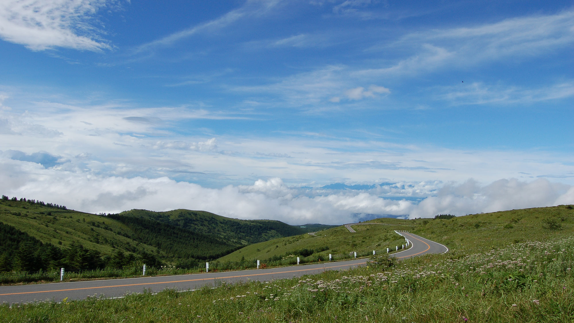
[[[321,227],[313,225],[307,229],[280,221],[237,220],[191,210],[131,210],[98,215],[5,196],[0,199],[0,225],[0,271],[62,266],[66,257],[85,258],[87,253],[93,261],[84,259],[76,266],[70,260],[67,267],[121,267],[138,259],[157,264],[156,258],[166,263],[193,264],[193,259],[215,259],[251,243]],[[28,255],[20,256],[21,259],[32,259],[29,266],[18,263],[20,249]],[[37,266],[32,266],[34,263]]]

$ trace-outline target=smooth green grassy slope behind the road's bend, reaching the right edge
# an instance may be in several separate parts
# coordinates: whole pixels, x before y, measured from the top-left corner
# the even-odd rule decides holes
[[[550,228],[550,224],[554,224],[554,227]],[[266,260],[289,254],[295,255],[304,248],[313,251],[322,250],[318,252],[321,255],[372,250],[381,253],[386,252],[386,247],[393,248],[404,241],[394,233],[394,230],[407,230],[419,234],[445,244],[453,250],[479,252],[507,243],[546,241],[571,236],[574,233],[574,208],[565,205],[538,207],[472,214],[450,220],[378,218],[355,225],[353,229],[356,233],[339,226],[317,232],[316,236],[301,234],[265,241],[239,249],[218,260],[238,261],[242,257],[247,260]]]

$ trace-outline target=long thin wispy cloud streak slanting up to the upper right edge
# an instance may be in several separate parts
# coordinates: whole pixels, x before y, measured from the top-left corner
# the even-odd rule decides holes
[[[472,27],[431,29],[406,34],[371,51],[401,48],[413,54],[390,66],[356,70],[355,76],[413,76],[441,68],[460,68],[503,59],[545,55],[574,43],[574,11],[510,18]]]

